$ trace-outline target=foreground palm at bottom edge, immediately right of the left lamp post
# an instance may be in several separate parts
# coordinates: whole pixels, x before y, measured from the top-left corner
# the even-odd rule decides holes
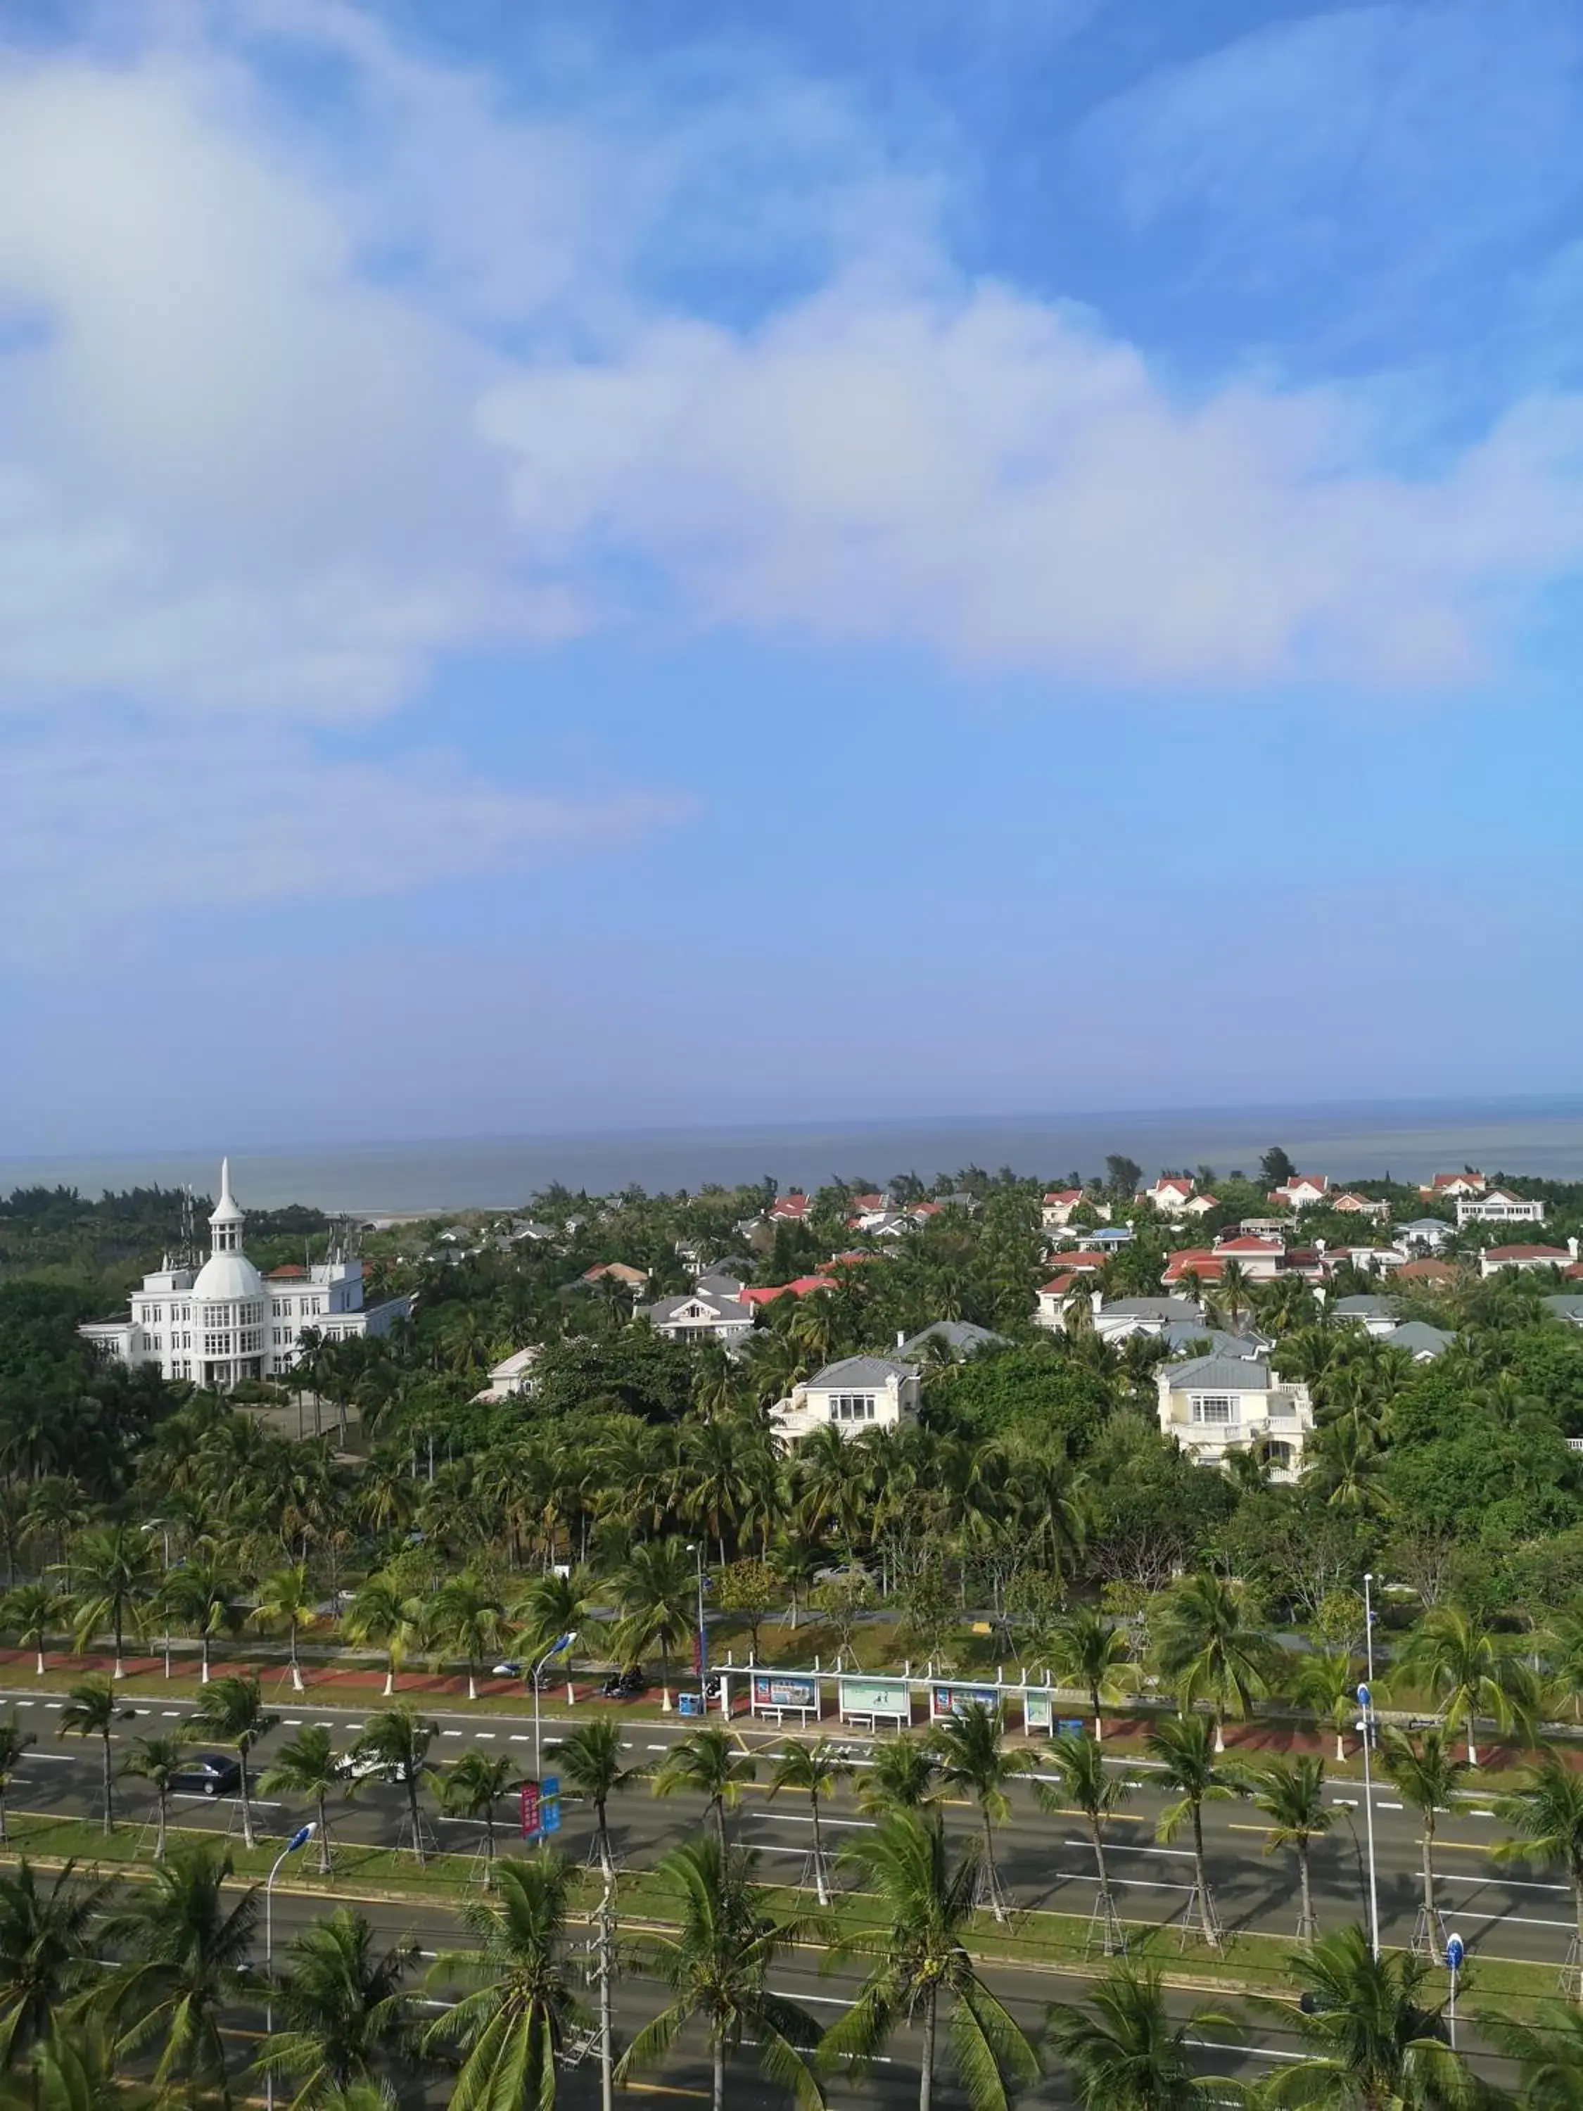
[[[338,1906],[287,1944],[274,1986],[281,2027],[264,2039],[255,2073],[289,2075],[291,2111],[317,2111],[329,2090],[374,2081],[382,2056],[412,2041],[403,1993],[418,1944],[378,1951],[361,1913]]]

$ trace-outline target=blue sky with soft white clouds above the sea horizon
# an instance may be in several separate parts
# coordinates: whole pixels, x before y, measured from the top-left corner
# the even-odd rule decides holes
[[[1575,1089],[1577,8],[0,38],[0,1150]]]

